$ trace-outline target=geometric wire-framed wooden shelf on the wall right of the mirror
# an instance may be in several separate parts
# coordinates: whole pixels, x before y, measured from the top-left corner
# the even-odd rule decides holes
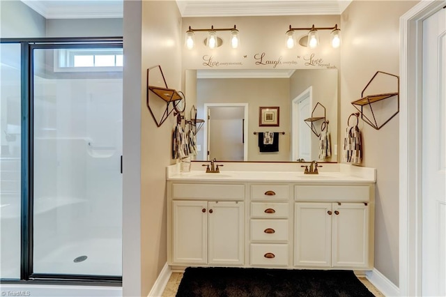
[[[392,77],[397,77],[397,92],[371,94],[371,95],[364,96],[364,91],[366,91],[367,87],[375,79],[376,75],[378,75],[380,73],[382,73],[383,75],[390,75]],[[387,98],[392,98],[394,96],[397,96],[397,111],[394,112],[386,121],[384,121],[384,123],[378,125],[378,123],[376,121],[374,109],[372,107],[372,103],[378,102],[380,100],[385,100]],[[365,86],[365,88],[362,90],[361,97],[362,98],[351,102],[351,104],[355,107],[355,109],[357,109],[358,112],[360,112],[361,119],[364,120],[364,122],[368,123],[376,130],[380,130],[380,128],[382,128],[383,125],[388,123],[394,116],[396,116],[399,113],[399,76],[392,75],[390,73],[385,73],[383,71],[376,71],[375,75],[373,77],[371,77],[367,86]],[[369,119],[369,117],[364,115],[364,106],[367,106],[367,105],[369,106],[370,112],[371,112],[371,116],[369,116],[369,117],[371,117],[373,119]]]

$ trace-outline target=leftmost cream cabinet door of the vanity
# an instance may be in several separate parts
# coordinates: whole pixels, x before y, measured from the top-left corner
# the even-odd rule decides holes
[[[172,201],[173,260],[178,264],[208,262],[208,202]]]

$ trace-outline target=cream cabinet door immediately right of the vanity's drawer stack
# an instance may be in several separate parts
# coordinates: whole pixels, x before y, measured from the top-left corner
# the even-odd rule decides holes
[[[295,204],[295,266],[331,266],[331,213],[331,203]]]

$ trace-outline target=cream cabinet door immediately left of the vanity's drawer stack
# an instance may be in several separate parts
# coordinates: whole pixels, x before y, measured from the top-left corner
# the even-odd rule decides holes
[[[243,264],[243,202],[208,202],[209,264]]]

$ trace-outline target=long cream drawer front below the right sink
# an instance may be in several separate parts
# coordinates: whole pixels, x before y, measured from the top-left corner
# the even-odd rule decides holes
[[[296,201],[360,201],[370,200],[369,185],[295,185]]]

